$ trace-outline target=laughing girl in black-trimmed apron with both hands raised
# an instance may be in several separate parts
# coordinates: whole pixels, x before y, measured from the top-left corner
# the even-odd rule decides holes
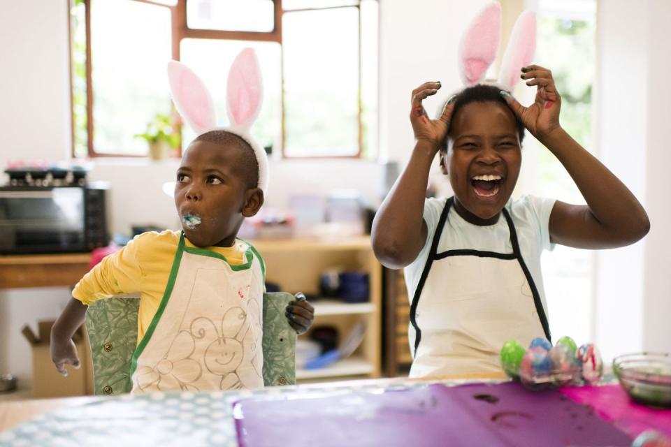
[[[422,100],[440,82],[412,92],[417,142],[372,235],[380,262],[405,268],[412,300],[410,376],[500,372],[498,354],[507,339],[523,345],[538,336],[550,339],[543,249],[622,247],[649,230],[633,194],[562,129],[561,96],[551,72],[537,65],[516,71],[536,87],[529,107],[500,86],[477,80],[432,120]],[[563,164],[587,205],[533,196],[510,200],[525,128]],[[435,154],[449,175],[452,198],[424,199]]]

